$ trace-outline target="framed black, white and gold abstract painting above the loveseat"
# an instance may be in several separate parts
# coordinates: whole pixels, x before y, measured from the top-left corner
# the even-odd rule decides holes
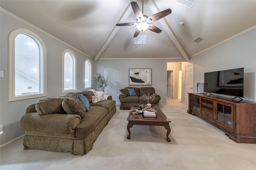
[[[129,68],[129,85],[152,85],[151,68]]]

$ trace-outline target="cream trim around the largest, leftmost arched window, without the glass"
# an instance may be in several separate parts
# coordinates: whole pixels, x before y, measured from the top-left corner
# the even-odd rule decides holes
[[[40,60],[42,63],[42,81],[43,84],[42,93],[37,94],[26,94],[22,96],[15,96],[15,38],[19,34],[28,34],[35,38],[34,40],[38,43],[40,47]],[[41,59],[42,57],[42,59]],[[44,41],[33,31],[28,29],[14,29],[10,32],[8,37],[8,102],[17,101],[17,100],[26,100],[32,98],[39,98],[47,96],[47,50]]]

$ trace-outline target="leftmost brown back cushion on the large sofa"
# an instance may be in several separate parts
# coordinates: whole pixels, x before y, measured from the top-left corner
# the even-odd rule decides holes
[[[62,113],[66,114],[65,110],[62,108],[62,102],[65,97],[50,97],[39,100],[36,103],[36,111],[40,115],[52,114],[52,113]]]

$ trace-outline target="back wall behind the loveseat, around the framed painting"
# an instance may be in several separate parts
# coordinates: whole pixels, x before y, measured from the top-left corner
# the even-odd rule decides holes
[[[152,85],[150,87],[154,87],[156,93],[161,96],[160,104],[166,104],[166,59],[98,60],[94,71],[109,77],[110,83],[105,89],[105,93],[112,95],[113,100],[120,103],[118,98],[121,94],[120,89],[129,86],[129,68],[152,68]]]

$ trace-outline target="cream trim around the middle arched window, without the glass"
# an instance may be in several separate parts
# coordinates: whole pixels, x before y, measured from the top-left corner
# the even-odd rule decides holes
[[[71,90],[64,90],[64,57],[65,57],[65,54],[66,53],[71,53],[72,55],[71,55],[71,57],[73,58],[73,87],[74,87],[74,89],[71,89]],[[76,92],[77,90],[77,88],[76,88],[76,86],[77,86],[77,83],[76,83],[76,80],[77,80],[77,78],[76,78],[76,55],[75,55],[75,53],[72,51],[72,50],[70,50],[70,49],[66,49],[66,50],[64,50],[63,51],[63,53],[62,53],[62,93],[68,93],[68,92]]]

